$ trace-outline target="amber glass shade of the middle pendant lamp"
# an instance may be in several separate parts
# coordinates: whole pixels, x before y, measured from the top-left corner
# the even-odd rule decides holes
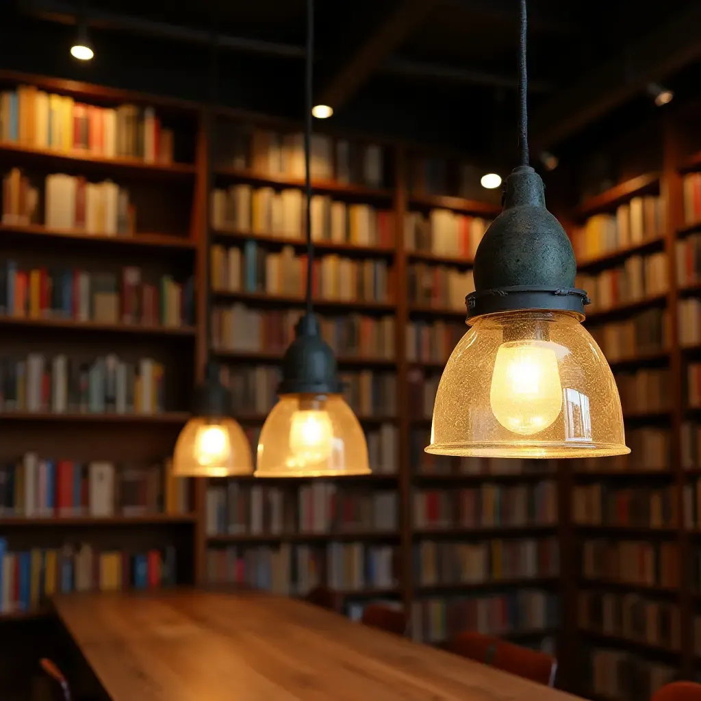
[[[341,395],[281,395],[258,441],[256,477],[369,475],[367,443]]]

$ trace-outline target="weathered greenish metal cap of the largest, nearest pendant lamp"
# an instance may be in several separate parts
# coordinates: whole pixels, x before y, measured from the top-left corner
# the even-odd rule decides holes
[[[572,244],[545,208],[540,175],[519,165],[506,179],[503,200],[503,211],[477,247],[475,292],[465,298],[468,321],[520,309],[584,315],[589,299],[574,286]]]

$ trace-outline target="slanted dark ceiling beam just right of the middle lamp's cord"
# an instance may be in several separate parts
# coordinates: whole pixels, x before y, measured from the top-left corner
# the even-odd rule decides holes
[[[341,60],[339,68],[320,90],[317,101],[334,109],[341,107],[428,17],[435,4],[436,0],[400,0],[368,39],[350,57]]]

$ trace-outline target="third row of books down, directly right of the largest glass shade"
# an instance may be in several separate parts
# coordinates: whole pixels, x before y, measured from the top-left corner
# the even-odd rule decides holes
[[[594,326],[589,330],[609,362],[639,358],[669,348],[667,309],[647,309],[629,319]]]

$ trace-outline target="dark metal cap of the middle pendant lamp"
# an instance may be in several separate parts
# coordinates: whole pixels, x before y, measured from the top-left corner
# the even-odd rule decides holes
[[[283,381],[278,394],[340,394],[343,386],[336,370],[336,358],[319,329],[313,313],[297,322],[296,337],[283,358]]]

